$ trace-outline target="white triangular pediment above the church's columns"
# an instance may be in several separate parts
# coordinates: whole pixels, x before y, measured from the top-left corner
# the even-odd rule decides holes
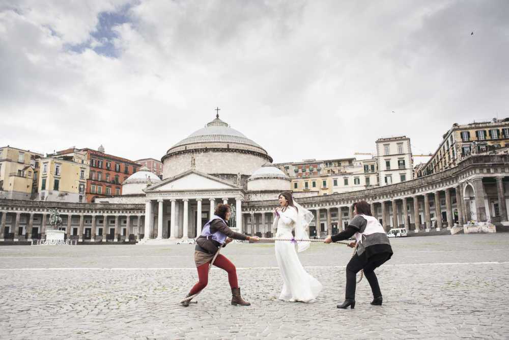
[[[153,185],[144,191],[184,191],[184,190],[224,190],[241,189],[236,185],[220,178],[207,175],[198,171],[190,170],[171,178],[166,178],[156,185]]]

